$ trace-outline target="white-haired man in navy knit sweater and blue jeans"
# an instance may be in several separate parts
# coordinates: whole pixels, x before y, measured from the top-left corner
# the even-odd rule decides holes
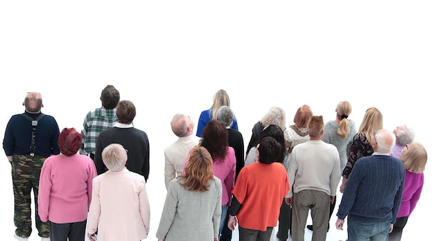
[[[372,143],[374,153],[359,159],[349,175],[336,214],[337,229],[342,229],[348,216],[348,241],[387,240],[393,229],[405,178],[403,163],[389,154],[395,141],[392,132],[378,130]]]

